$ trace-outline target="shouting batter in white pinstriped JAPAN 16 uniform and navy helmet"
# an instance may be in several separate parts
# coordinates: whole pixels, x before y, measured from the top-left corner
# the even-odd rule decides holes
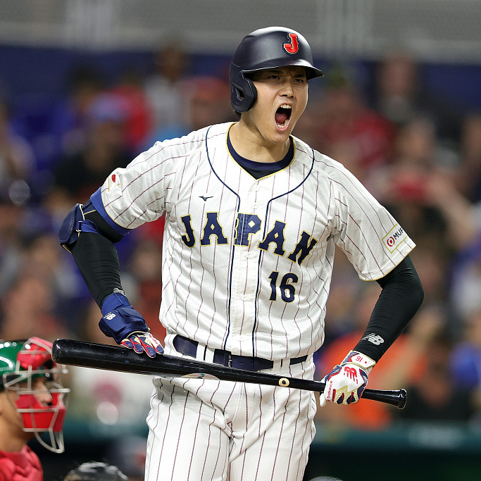
[[[368,329],[325,377],[321,404],[358,401],[368,373],[423,299],[415,244],[358,180],[291,135],[323,73],[284,27],[256,30],[230,67],[239,121],[157,142],[65,218],[101,330],[149,356],[161,343],[120,282],[115,242],[165,213],[160,320],[165,353],[313,379],[335,245],[382,286]],[[154,378],[147,481],[300,481],[315,434],[311,392]]]

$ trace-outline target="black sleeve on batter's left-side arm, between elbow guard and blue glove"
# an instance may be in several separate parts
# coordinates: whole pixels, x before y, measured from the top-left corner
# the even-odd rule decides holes
[[[81,232],[70,251],[96,304],[101,307],[102,301],[114,289],[123,291],[117,249],[113,245],[122,236],[97,211],[86,213],[85,218],[91,220],[101,233]]]

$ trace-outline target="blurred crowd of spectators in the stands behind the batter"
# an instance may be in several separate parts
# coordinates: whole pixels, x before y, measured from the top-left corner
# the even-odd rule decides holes
[[[282,25],[291,26],[288,17]],[[301,24],[292,26],[303,32]],[[158,35],[137,57],[81,51],[69,62],[60,48],[0,42],[0,339],[109,343],[98,328],[99,308],[58,244],[58,227],[113,168],[154,142],[235,121],[230,56],[192,49],[181,34]],[[463,85],[472,88],[456,96],[446,93],[456,91],[453,75],[442,77],[456,61],[430,63],[403,42],[376,58],[315,56],[325,77],[311,82],[294,135],[346,165],[389,208],[417,244],[411,256],[425,289],[422,308],[369,379],[371,388],[406,387],[406,408],[373,401],[325,406],[318,423],[387,430],[415,420],[481,428],[479,65],[460,65]],[[29,61],[38,72],[25,68]],[[50,66],[57,87],[46,92],[41,86]],[[23,72],[21,85],[11,75],[15,69]],[[159,220],[118,244],[127,296],[160,338],[162,230]],[[318,378],[356,344],[379,292],[337,253],[325,344],[316,353]],[[150,378],[70,371],[72,430],[95,426],[114,444],[109,461],[134,479],[142,471]],[[67,422],[67,450],[68,429]]]

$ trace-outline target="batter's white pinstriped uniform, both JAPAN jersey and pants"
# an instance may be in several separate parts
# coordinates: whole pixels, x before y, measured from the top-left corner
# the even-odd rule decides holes
[[[228,154],[229,127],[157,143],[115,170],[102,201],[128,229],[165,212],[166,354],[181,355],[176,334],[198,341],[204,361],[212,349],[274,361],[307,354],[279,372],[312,379],[335,245],[361,279],[374,280],[414,244],[349,171],[299,139],[290,165],[254,179]],[[146,481],[301,481],[315,431],[311,392],[154,384]]]

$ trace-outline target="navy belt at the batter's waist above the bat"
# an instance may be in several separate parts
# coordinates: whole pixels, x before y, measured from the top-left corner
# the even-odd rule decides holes
[[[182,354],[187,354],[187,356],[196,357],[197,355],[197,341],[192,341],[188,337],[181,335],[176,335],[173,340],[175,350],[181,352]],[[301,356],[299,358],[291,358],[289,364],[299,364],[306,361],[307,356]],[[251,371],[258,371],[263,369],[272,369],[274,366],[274,361],[269,359],[256,358],[250,356],[238,356],[237,354],[232,354],[229,351],[224,351],[224,349],[214,350],[214,363],[222,364],[223,366],[229,366],[230,368],[245,369]]]

